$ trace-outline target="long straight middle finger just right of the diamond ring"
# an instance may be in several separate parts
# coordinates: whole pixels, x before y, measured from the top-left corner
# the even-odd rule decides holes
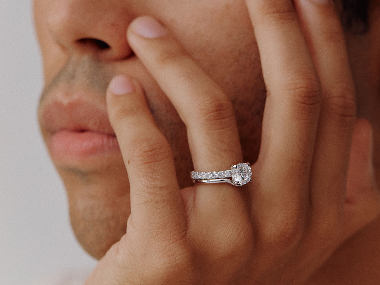
[[[287,217],[278,218],[279,211],[302,222],[321,101],[318,77],[292,1],[246,3],[268,91],[257,163],[265,187],[254,199],[262,215],[280,224]]]

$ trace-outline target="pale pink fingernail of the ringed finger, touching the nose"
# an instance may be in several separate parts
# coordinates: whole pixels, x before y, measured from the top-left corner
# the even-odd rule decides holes
[[[133,21],[132,30],[144,38],[159,38],[165,36],[168,31],[154,18],[143,16]]]

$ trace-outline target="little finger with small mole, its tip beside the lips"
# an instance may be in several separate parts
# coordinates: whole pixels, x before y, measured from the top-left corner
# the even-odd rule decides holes
[[[112,79],[107,109],[130,181],[127,231],[133,225],[152,239],[183,233],[186,216],[173,155],[154,123],[139,84],[125,76]]]

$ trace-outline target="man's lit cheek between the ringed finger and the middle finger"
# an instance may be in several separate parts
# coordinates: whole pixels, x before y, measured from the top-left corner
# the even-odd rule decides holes
[[[198,65],[234,99],[236,89],[250,89],[261,74],[249,14],[244,1],[202,3],[196,9],[189,6],[186,15],[172,18],[168,25]]]

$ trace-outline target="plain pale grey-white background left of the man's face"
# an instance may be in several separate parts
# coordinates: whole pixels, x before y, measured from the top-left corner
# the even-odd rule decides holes
[[[28,0],[0,0],[0,285],[89,272],[36,120],[40,52]]]

